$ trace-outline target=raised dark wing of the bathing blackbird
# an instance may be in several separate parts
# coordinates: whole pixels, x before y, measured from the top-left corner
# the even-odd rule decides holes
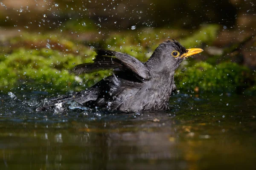
[[[97,49],[93,63],[76,65],[73,69],[76,74],[92,73],[101,70],[118,69],[119,71],[132,71],[138,78],[148,80],[148,68],[140,60],[116,51]]]

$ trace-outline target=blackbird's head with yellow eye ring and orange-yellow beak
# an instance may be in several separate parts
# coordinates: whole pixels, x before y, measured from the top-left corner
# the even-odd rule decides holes
[[[186,49],[180,42],[168,40],[155,49],[147,65],[154,72],[172,72],[177,69],[183,59],[202,51],[204,50],[201,48]]]

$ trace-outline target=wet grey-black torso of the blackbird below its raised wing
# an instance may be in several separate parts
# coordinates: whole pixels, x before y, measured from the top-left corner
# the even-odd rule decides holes
[[[113,75],[98,86],[100,84],[107,84],[108,87],[102,87],[104,90],[95,105],[121,111],[165,110],[174,87],[173,75],[167,79],[156,77],[146,82],[133,82]]]

